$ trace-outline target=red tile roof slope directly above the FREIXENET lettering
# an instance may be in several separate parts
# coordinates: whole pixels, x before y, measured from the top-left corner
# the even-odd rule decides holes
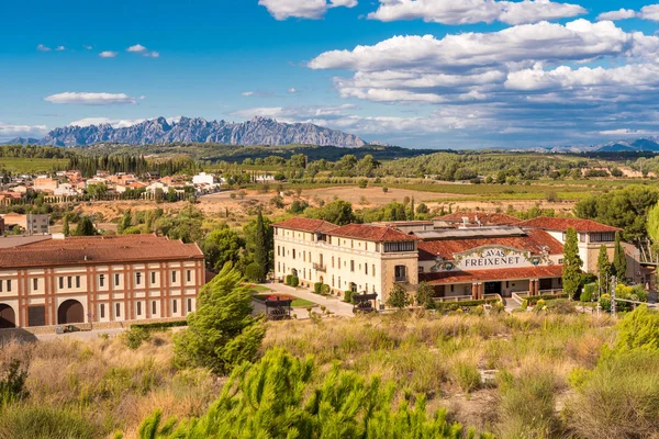
[[[540,255],[543,250],[547,250],[549,255],[561,255],[563,251],[562,245],[547,232],[528,230],[523,236],[422,240],[418,243],[418,259],[435,260],[439,256],[446,260],[454,260],[456,254],[485,246],[517,248],[533,255]]]

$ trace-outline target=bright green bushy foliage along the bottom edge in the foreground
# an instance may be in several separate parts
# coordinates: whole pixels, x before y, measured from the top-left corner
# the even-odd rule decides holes
[[[141,439],[175,438],[401,438],[461,439],[460,425],[446,412],[428,416],[423,397],[394,404],[391,385],[365,380],[338,367],[314,380],[312,359],[280,349],[254,365],[236,369],[220,398],[199,419],[160,427],[161,415],[147,418]],[[474,436],[471,436],[474,437]]]

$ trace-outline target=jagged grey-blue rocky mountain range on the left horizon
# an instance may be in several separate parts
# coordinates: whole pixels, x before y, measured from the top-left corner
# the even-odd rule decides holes
[[[157,117],[135,125],[115,128],[110,124],[65,126],[51,131],[41,139],[18,137],[8,144],[40,144],[52,146],[86,146],[98,143],[153,145],[176,142],[217,143],[224,145],[319,145],[360,147],[367,143],[356,135],[330,130],[311,123],[287,124],[273,119],[255,116],[233,123],[206,121],[202,117],[180,117],[168,122]]]

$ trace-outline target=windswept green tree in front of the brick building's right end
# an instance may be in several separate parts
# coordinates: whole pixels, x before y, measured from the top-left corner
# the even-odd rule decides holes
[[[263,323],[252,316],[252,293],[231,263],[199,293],[188,329],[175,338],[179,367],[197,365],[228,373],[243,361],[254,361],[265,336]]]

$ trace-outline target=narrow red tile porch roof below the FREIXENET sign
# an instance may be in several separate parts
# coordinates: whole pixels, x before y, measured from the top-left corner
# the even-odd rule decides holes
[[[420,273],[418,280],[427,282],[431,285],[444,285],[451,283],[560,278],[562,275],[562,267],[539,266],[496,270],[443,271],[437,273]]]

